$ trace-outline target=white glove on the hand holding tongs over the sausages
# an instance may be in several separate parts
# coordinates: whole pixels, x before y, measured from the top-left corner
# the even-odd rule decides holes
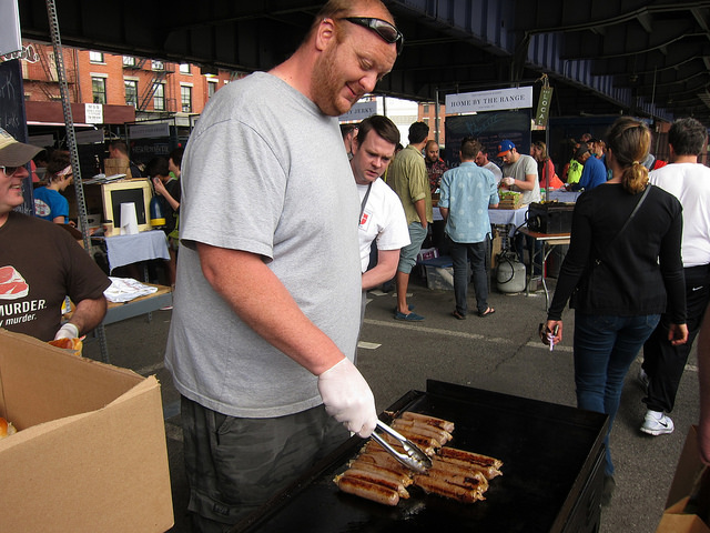
[[[368,438],[377,424],[375,398],[363,374],[344,359],[318,375],[325,411],[349,431]]]

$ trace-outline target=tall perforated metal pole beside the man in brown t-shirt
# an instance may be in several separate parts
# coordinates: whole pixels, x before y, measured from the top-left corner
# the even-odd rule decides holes
[[[59,78],[59,91],[62,99],[62,110],[64,111],[64,125],[67,128],[67,148],[71,160],[71,168],[74,174],[74,189],[77,191],[77,211],[79,212],[79,225],[84,243],[84,250],[91,255],[91,238],[87,222],[87,203],[84,202],[84,188],[81,181],[81,169],[79,167],[79,151],[77,149],[77,135],[74,134],[74,119],[71,113],[71,102],[69,99],[69,86],[67,83],[67,72],[64,70],[64,57],[59,33],[59,19],[57,18],[57,6],[54,0],[45,0],[47,16],[49,18],[49,31],[54,49],[54,63],[57,66],[57,77]],[[101,354],[104,362],[109,362],[109,349],[105,340],[103,324],[95,329],[101,346]]]

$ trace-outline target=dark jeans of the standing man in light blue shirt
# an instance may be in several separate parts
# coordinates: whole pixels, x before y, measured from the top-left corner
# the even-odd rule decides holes
[[[488,247],[483,242],[454,242],[447,237],[449,253],[454,260],[454,298],[456,298],[456,311],[466,316],[468,312],[468,261],[474,272],[474,291],[476,291],[476,305],[478,313],[485,313],[488,309],[488,275],[486,274],[486,252]]]

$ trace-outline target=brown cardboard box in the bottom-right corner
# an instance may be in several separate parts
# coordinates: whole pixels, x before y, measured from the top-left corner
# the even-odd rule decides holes
[[[697,514],[686,512],[702,471],[703,464],[698,451],[698,429],[691,425],[668,491],[666,511],[656,533],[710,533],[710,527]]]

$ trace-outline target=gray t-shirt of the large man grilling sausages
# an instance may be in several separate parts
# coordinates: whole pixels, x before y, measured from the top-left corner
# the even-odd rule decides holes
[[[207,283],[194,243],[261,254],[352,358],[362,296],[359,202],[337,119],[281,79],[254,73],[210,101],[181,181],[183,245],[165,354],[175,386],[232,416],[282,416],[321,404],[317,379],[245,325]]]

